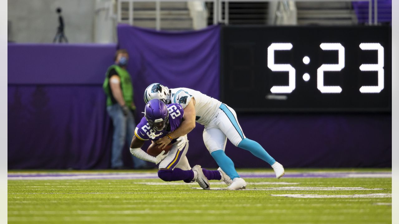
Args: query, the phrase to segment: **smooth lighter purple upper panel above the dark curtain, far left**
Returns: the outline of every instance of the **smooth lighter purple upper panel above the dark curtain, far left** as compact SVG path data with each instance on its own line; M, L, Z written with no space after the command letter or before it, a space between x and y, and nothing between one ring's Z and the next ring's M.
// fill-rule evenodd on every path
M102 84L115 44L8 44L8 84Z

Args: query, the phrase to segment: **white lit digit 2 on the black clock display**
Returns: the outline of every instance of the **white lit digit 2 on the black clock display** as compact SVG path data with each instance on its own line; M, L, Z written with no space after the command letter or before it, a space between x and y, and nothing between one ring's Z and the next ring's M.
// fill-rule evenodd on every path
M323 64L317 69L317 88L322 93L340 93L342 92L341 86L324 85L324 72L341 71L345 67L345 47L340 43L322 43L320 44L320 48L324 51L338 51L338 64Z

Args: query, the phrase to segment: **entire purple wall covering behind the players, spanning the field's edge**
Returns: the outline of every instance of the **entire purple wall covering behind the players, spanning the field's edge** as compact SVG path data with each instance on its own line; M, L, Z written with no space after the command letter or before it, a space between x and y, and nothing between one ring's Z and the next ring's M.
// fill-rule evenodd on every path
M119 26L130 52L134 99L144 108L151 83L219 94L219 28L165 33ZM105 169L112 124L102 82L115 45L8 45L8 168ZM141 116L138 110L136 120ZM390 114L238 114L247 138L285 167L391 167ZM188 135L191 165L217 167L202 141ZM144 145L144 149L149 143ZM269 167L227 141L236 167ZM131 165L128 148L126 164Z

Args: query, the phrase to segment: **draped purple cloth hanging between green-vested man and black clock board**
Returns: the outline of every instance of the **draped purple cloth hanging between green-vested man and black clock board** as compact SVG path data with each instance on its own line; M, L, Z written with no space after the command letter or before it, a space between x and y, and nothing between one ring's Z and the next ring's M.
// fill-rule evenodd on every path
M219 31L219 26L176 33L119 25L119 48L130 54L128 71L138 108L144 108L144 90L151 83L218 98Z

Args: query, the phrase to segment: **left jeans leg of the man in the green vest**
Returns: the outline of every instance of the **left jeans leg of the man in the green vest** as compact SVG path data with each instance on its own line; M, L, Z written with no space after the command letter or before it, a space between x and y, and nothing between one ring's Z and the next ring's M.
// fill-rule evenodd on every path
M118 104L108 106L107 111L114 125L111 168L115 169L123 166L122 149L126 138L126 117Z

